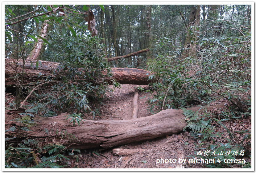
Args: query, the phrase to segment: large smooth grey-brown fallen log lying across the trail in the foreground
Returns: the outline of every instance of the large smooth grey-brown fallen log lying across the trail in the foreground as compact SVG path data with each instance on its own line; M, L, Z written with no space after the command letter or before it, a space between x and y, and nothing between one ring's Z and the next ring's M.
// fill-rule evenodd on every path
M222 107L218 105L217 108ZM197 111L201 107L188 108ZM216 106L209 106L207 111ZM202 109L199 110L202 112ZM19 137L19 139L33 138L60 142L70 148L100 148L106 149L117 145L154 139L156 137L179 133L187 125L182 110L167 109L147 117L122 121L93 121L85 120L78 126L66 120L67 113L54 117L35 117L30 131L19 130L27 125L14 121L13 114L5 112L5 136ZM206 120L206 119L205 119ZM73 136L73 137L72 137Z

